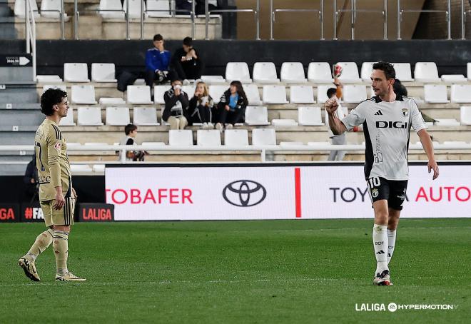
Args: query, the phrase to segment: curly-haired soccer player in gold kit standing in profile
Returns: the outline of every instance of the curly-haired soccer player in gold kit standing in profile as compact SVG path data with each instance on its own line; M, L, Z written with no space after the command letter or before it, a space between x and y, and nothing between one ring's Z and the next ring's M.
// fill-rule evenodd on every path
M56 280L84 281L67 269L69 255L69 233L74 223L76 193L72 188L71 167L67 156L66 141L59 130L59 122L67 116L69 102L67 93L59 88L50 88L41 96L41 112L46 119L34 137L36 168L39 177L39 202L48 228L39 234L18 265L25 275L40 281L34 264L38 255L49 245L56 256Z

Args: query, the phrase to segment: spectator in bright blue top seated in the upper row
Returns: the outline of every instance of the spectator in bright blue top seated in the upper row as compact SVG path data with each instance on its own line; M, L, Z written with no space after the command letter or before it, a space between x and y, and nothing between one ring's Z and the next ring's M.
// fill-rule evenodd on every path
M171 54L163 47L163 37L161 34L153 36L153 49L148 49L146 53L146 84L153 86L153 83L166 83L169 79L168 65Z

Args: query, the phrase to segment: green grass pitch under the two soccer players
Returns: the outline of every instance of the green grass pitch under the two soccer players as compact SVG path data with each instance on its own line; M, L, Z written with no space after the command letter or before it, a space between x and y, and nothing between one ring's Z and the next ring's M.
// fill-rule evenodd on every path
M389 287L372 285L372 228L372 220L77 223L69 269L86 283L54 282L51 247L33 283L16 262L43 224L0 224L0 323L470 323L471 219L402 219ZM386 310L355 310L362 303ZM388 303L454 309L392 313Z

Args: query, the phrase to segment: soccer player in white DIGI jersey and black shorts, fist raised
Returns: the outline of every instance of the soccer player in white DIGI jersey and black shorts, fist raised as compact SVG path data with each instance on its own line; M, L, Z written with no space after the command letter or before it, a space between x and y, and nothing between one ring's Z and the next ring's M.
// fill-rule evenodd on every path
M334 134L363 125L365 134L365 178L375 211L373 247L376 256L375 285L390 285L388 263L393 256L396 228L407 189L410 128L414 128L427 153L428 172L438 176L432 140L412 98L397 96L393 91L395 71L392 64L373 64L371 86L375 96L363 102L340 120L335 97L325 102L329 126Z

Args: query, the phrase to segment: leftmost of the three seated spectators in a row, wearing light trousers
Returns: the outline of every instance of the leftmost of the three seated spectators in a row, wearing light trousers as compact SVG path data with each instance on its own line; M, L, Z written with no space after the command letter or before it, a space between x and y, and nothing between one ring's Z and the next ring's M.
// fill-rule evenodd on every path
M181 90L181 80L172 81L172 88L163 94L165 108L162 119L170 123L171 129L183 129L188 125L188 95Z

